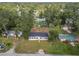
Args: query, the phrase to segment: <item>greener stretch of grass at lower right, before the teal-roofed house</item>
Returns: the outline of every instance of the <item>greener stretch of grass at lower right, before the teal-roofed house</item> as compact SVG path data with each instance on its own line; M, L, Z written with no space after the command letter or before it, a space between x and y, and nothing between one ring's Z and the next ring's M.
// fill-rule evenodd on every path
M62 42L54 42L48 49L48 54L79 55L79 43L76 46Z

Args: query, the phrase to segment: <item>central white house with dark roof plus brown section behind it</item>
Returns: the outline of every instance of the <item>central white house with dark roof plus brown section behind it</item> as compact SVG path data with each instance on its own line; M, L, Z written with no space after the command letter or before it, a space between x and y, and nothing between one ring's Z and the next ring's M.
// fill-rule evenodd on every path
M33 27L29 34L29 40L48 40L47 27Z

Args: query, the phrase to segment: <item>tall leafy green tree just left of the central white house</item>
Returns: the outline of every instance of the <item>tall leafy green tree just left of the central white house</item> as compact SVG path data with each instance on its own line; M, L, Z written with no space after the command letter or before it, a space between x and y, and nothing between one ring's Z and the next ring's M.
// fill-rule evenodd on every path
M29 32L33 26L33 10L21 10L21 16L15 20L16 31L22 31L23 36L28 38Z

